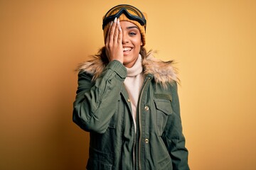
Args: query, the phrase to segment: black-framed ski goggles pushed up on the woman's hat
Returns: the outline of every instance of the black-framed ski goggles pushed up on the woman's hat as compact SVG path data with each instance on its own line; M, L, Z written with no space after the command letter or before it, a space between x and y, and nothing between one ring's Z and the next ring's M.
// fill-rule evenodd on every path
M112 14L114 11L117 10L117 13ZM130 13L129 11L132 11L133 13ZM146 31L146 18L144 17L142 11L139 11L138 8L127 4L114 6L109 11L107 11L106 15L103 17L102 30L104 30L107 23L109 23L110 21L114 21L114 18L119 18L122 13L124 13L124 15L127 16L127 18L129 18L130 20L139 22L140 25L145 27Z

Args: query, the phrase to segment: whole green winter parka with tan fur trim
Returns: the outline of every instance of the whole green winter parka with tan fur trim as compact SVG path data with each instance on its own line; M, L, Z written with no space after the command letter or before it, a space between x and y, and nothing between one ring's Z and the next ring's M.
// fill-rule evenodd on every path
M124 88L124 65L118 61L105 65L100 58L82 64L73 121L90 132L88 170L189 169L175 69L154 57L146 57L142 64L145 80L137 106L137 132Z

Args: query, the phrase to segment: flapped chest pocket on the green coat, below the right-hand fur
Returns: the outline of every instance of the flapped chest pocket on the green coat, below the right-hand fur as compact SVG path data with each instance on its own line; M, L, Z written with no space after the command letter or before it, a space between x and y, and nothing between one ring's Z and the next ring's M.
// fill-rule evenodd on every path
M156 125L158 135L161 136L164 132L168 116L173 113L171 108L171 100L166 99L155 99L156 106Z

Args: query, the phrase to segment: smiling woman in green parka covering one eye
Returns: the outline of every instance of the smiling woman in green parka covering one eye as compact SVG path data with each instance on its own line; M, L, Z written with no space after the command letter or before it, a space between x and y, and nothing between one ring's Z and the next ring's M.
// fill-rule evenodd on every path
M172 62L146 52L145 13L114 6L105 47L78 68L73 121L90 132L87 169L189 169Z

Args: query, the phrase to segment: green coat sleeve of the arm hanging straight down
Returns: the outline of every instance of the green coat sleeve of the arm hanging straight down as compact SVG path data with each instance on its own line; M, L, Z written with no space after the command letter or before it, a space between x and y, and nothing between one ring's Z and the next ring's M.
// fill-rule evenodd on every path
M172 84L171 108L172 114L169 116L166 128L164 129L164 142L169 149L172 164L175 170L188 170L188 149L185 147L185 137L182 132L180 106L178 100L177 84Z

